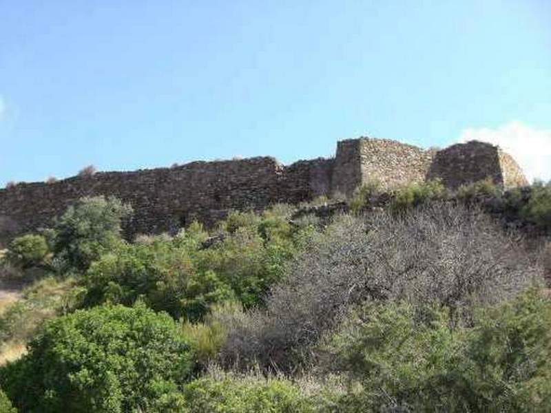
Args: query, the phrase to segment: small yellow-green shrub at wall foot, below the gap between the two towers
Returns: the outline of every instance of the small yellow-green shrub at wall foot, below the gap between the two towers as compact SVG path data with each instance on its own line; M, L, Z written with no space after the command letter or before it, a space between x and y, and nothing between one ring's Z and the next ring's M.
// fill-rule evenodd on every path
M395 192L391 208L395 212L402 213L431 200L444 199L446 194L446 187L439 179L421 183L413 182Z

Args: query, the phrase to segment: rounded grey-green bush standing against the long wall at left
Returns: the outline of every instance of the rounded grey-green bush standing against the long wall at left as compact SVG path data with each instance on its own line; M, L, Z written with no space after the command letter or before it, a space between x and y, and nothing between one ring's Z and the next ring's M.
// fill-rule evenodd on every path
M129 205L110 197L82 198L54 227L54 254L84 271L103 253L121 243L121 223L132 213Z

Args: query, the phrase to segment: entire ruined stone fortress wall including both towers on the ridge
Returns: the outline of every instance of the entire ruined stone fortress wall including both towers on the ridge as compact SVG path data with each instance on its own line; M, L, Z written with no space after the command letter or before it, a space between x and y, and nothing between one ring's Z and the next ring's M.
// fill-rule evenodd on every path
M392 189L441 178L455 188L488 176L505 187L526 184L512 157L489 144L469 142L424 151L393 140L369 138L338 142L335 158L302 160L289 166L258 157L101 172L0 189L0 244L49 226L83 196L114 195L132 204L134 218L125 228L132 236L174 232L192 220L210 226L231 209L261 210L277 202L296 204L318 195L352 195L357 187L373 181Z

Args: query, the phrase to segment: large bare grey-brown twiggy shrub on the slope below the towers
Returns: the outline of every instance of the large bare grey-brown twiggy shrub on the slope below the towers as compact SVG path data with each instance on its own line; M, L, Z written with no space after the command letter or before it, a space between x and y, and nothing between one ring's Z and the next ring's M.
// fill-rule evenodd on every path
M447 204L402 217L344 215L306 249L265 310L228 321L221 352L227 365L290 372L362 301L436 301L468 321L473 304L515 295L542 275L523 245L488 216Z

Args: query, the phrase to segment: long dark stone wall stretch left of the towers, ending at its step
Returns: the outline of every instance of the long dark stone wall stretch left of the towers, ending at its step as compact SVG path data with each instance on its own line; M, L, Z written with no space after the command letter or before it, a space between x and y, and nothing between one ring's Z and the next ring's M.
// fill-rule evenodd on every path
M127 233L175 231L194 219L212 224L229 209L276 202L282 174L273 158L251 158L19 184L0 191L0 217L7 223L4 232L22 233L50 225L83 196L115 195L134 207Z

